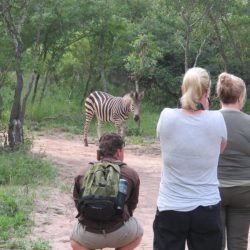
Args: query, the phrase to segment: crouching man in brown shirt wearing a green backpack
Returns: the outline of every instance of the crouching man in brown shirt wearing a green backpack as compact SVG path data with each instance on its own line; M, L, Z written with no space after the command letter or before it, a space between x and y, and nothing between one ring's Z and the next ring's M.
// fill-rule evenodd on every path
M138 203L140 179L137 172L123 162L124 146L124 141L118 134L104 134L99 141L98 162L90 163L87 171L75 178L73 198L78 210L78 222L75 224L70 238L74 250L102 248L132 250L141 241L143 228L133 217L133 212ZM101 165L107 167L104 171L105 177L101 176L102 171L99 169L97 171L97 168L100 168ZM90 175L90 172L95 178ZM112 176L108 176L111 173ZM119 183L119 179L122 179L127 185L124 199L121 197L118 199L119 202L124 200L122 210L111 211L116 205L106 208L104 205L106 204L105 199L99 201L98 205L93 205L96 197L100 197L100 194L93 194L93 192L101 192L104 196L104 187L114 185L110 180L116 180L117 174L119 174L119 177L115 182ZM95 179L95 181L92 181L92 179ZM102 182L102 185L95 183L96 187L93 188L91 185L94 184L90 183L98 181ZM119 189L119 185L111 189L115 192L116 188ZM91 191L93 189L95 191ZM100 191L100 189L102 190ZM117 198L115 200L117 202ZM109 213L112 214L110 216L107 214L109 210ZM99 214L99 212L104 213L104 211L106 214Z

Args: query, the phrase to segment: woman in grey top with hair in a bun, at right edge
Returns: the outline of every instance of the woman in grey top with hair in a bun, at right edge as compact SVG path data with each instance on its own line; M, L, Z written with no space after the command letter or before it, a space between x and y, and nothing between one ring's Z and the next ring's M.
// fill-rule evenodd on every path
M247 250L250 224L250 116L243 113L244 81L222 73L217 94L228 130L228 145L219 159L222 219L228 250Z

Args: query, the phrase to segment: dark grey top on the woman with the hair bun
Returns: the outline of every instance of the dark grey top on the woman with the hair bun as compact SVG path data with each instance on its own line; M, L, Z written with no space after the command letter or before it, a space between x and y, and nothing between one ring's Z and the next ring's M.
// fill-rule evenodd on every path
M228 142L219 158L220 186L250 186L250 116L236 109L222 109Z

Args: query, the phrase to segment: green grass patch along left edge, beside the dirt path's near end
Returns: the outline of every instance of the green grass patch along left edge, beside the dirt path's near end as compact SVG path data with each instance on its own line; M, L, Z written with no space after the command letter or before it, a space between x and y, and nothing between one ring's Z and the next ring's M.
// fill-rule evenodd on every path
M0 248L31 232L34 188L49 183L55 168L27 148L0 151ZM4 243L2 243L4 242Z

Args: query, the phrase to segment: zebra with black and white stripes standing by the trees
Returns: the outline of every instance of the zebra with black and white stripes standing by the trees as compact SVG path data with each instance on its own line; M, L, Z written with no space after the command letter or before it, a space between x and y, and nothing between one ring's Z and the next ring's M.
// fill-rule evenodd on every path
M91 120L96 115L97 135L100 139L101 129L105 122L115 124L117 133L124 136L124 125L129 113L133 113L136 122L140 121L140 103L144 92L131 91L123 97L114 97L102 91L92 92L85 100L85 124L83 131L84 144L88 146L88 130Z

